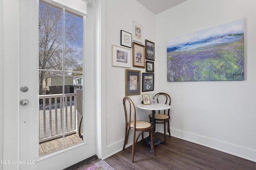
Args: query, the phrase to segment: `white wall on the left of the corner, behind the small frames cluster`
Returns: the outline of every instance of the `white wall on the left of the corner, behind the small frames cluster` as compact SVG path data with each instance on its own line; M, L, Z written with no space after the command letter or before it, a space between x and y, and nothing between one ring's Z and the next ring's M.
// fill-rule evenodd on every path
M112 66L112 45L121 46L121 29L132 33L132 21L143 26L144 40L156 41L155 15L152 12L135 0L106 0L104 2L106 4L104 6L102 3L102 12L106 10L106 15L102 14L102 23L106 23L106 25L102 25L102 28L105 27L105 30L102 30L102 40L104 40L105 34L106 41L102 42L101 48L106 51L105 53L102 51L101 54L102 158L121 150L124 144L125 123L122 99L125 96L125 69L140 70L141 75L142 72L145 72L145 68ZM130 96L130 98L134 104L142 101L141 95ZM148 119L148 114L139 110L138 114L141 114L142 119ZM129 142L128 145L130 144Z

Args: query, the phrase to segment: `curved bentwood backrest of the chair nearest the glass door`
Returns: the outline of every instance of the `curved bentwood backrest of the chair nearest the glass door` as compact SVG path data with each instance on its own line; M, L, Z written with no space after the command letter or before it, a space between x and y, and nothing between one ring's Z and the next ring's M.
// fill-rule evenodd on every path
M130 127L132 121L132 115L134 119L134 127L136 127L136 109L132 100L128 97L123 98L125 122ZM133 113L133 114L132 114Z

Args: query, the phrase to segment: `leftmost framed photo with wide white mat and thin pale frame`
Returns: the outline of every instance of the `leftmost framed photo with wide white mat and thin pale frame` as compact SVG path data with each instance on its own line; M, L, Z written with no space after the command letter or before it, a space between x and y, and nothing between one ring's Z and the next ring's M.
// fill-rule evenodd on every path
M112 45L112 66L131 68L131 50Z

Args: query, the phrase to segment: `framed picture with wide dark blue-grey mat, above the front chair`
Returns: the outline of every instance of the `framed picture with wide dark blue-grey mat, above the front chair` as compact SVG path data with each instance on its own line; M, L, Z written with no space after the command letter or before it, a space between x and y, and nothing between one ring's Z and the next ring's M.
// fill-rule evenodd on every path
M125 70L125 96L140 94L140 70Z

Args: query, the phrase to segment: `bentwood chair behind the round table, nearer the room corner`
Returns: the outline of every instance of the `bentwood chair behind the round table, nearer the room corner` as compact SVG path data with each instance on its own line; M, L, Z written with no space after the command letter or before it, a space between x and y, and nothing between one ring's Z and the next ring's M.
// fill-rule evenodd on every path
M162 104L168 104L171 106L171 97L167 93L157 93L155 94L154 98L156 98L157 103L162 103ZM150 122L152 122L152 114L148 116L150 119ZM171 137L170 133L170 109L161 111L158 110L158 114L156 111L155 114L155 123L159 124L164 124L164 141L165 144L167 145L166 141L166 123L167 123L167 131L169 133L169 137Z

